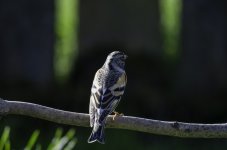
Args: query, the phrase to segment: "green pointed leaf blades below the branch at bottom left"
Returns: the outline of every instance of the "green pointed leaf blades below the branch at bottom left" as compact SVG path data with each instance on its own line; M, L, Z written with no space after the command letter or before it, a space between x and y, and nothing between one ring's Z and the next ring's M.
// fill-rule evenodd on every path
M54 137L52 138L50 144L47 146L47 150L72 150L75 148L77 139L75 138L75 129L70 129L65 135L63 134L63 130L58 128L55 132ZM42 150L41 144L38 143L38 138L40 135L39 130L35 130L24 148L24 150ZM10 128L5 127L0 139L0 150L10 150Z

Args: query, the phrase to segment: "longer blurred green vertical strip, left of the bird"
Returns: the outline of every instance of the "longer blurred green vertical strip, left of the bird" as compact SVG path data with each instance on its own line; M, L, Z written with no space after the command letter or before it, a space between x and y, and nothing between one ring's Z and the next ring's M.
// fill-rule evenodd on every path
M58 82L67 81L78 52L78 0L56 0L54 71Z

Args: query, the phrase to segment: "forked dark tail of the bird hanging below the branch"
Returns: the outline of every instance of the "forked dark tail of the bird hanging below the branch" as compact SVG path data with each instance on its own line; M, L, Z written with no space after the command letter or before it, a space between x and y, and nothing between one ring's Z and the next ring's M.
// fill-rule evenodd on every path
M104 125L94 124L93 130L90 137L88 138L88 143L93 143L98 141L101 144L105 144L104 140Z

